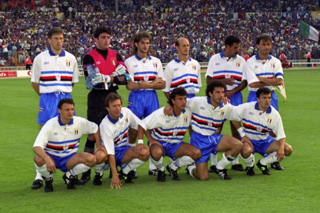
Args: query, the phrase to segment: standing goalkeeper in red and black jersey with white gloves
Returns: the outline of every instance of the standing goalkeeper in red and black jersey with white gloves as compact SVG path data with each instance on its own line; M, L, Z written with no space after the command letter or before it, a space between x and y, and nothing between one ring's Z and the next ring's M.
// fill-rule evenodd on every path
M94 39L96 49L89 52L83 59L83 70L86 77L86 87L91 90L88 94L87 119L100 124L106 116L103 102L110 92L116 92L118 85L127 85L130 77L126 72L121 55L109 49L111 42L111 29L98 27ZM88 135L84 152L94 153L95 138ZM103 146L97 142L97 150L106 153ZM87 183L91 178L91 170L82 174L80 182Z

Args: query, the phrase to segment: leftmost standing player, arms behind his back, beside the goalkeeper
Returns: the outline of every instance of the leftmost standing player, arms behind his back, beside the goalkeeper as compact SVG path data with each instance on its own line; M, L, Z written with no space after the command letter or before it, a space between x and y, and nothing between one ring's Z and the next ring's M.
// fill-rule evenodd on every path
M37 119L40 129L48 120L59 115L59 101L71 98L72 87L79 82L75 57L62 49L64 31L61 28L51 28L48 31L48 42L49 49L34 58L31 76L32 88L40 96ZM31 188L37 189L42 185L41 174L36 171Z

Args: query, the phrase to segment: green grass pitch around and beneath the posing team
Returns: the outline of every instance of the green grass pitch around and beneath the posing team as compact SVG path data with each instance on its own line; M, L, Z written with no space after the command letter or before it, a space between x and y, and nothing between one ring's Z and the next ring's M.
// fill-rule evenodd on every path
M67 190L63 172L59 170L53 175L52 193L45 193L43 187L31 189L35 177L32 145L39 132L36 123L39 97L30 79L1 79L0 212L319 212L319 79L319 69L285 70L288 99L285 101L279 93L278 99L286 141L293 152L281 163L284 171L270 169L272 175L263 176L255 166L256 176L247 177L245 172L231 170L229 165L226 168L231 181L223 181L212 173L208 181L198 181L182 168L178 171L180 182L166 176L166 182L158 183L155 176L147 175L147 162L137 169L134 184L122 181L121 189L110 189L107 171L101 186L94 186L91 180L76 190ZM204 73L202 83L199 95L205 94ZM126 106L129 92L121 86L118 93ZM77 116L84 118L87 94L84 78L80 77L72 96ZM243 94L246 101L248 90ZM162 91L158 95L163 106L166 100ZM223 134L230 135L229 122L225 123ZM80 152L85 141L83 136ZM188 133L184 141L189 142ZM256 162L260 158L256 154ZM168 162L165 157L164 166ZM241 159L240 162L244 165ZM92 179L94 174L92 169Z

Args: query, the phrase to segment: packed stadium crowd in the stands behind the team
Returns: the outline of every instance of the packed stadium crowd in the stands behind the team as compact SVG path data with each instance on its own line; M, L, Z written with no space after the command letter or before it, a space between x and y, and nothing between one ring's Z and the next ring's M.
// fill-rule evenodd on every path
M162 62L171 61L176 56L174 41L180 36L190 40L192 58L209 61L211 55L224 49L223 41L230 31L242 39L240 55L243 56L245 52L255 54L256 35L267 33L273 39L272 55L277 58L283 52L288 60L302 59L308 49L312 58L320 58L318 43L299 36L300 19L284 17L281 13L314 10L319 6L318 1L281 2L280 10L277 9L278 0L271 0L263 7L263 11L268 12L253 13L241 19L241 11L260 12L260 1L249 4L246 0L219 0L215 3L213 0L186 0L181 4L174 0L123 0L119 1L119 15L114 17L111 15L115 9L114 0L86 3L80 0L2 0L0 54L7 65L24 63L27 53L33 60L48 47L44 39L47 30L61 27L66 32L64 49L73 53L81 63L84 55L95 47L90 35L96 27L108 26L114 30L111 48L120 52L124 59L131 54L133 35L141 30L152 33L151 54ZM100 13L102 11L104 13ZM52 12L66 12L69 19L59 20ZM159 19L162 12L165 21ZM232 12L238 12L238 17L233 18ZM319 20L309 16L301 20L320 29ZM81 38L84 38L82 44L78 42Z

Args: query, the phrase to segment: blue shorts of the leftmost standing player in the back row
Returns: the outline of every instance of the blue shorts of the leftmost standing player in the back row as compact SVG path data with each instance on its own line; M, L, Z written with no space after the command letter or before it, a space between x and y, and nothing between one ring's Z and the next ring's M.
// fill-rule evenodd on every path
M68 92L50 92L42 93L39 103L39 114L37 122L39 124L45 124L50 119L59 115L58 103L61 99L72 98ZM75 115L75 113L74 113Z

